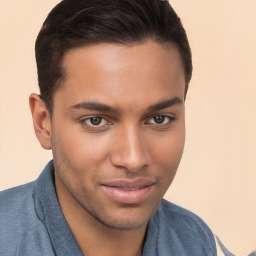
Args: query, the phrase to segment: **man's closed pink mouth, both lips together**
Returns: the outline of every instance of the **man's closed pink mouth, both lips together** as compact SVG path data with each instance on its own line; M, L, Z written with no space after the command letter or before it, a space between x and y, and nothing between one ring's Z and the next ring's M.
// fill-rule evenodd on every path
M155 184L152 180L118 180L103 184L106 195L119 204L139 204L147 199Z

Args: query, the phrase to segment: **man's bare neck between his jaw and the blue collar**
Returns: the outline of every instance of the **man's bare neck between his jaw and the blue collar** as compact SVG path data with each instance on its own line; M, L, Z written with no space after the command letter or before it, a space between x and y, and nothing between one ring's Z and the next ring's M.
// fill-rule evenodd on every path
M133 230L106 227L88 213L55 178L65 219L86 256L141 256L147 225Z

